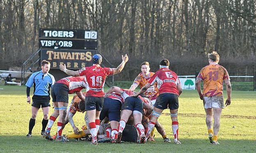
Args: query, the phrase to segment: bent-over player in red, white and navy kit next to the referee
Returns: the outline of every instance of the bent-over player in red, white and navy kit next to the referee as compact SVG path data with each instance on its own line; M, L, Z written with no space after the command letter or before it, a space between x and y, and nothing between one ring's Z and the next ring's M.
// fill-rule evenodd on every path
M85 101L85 96L82 94L81 90L86 88L86 80L84 76L74 77L69 76L63 79L60 79L53 85L52 89L52 98L53 98L53 106L54 112L50 116L50 121L48 122L48 126L46 128L46 132L43 133L43 137L46 139L50 139L50 129L53 126L54 121L59 116L57 122L57 141L66 141L62 137L62 130L64 127L66 108L69 103L69 94L76 93L82 101Z

